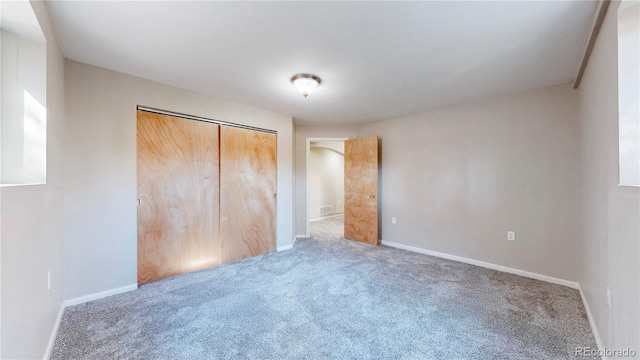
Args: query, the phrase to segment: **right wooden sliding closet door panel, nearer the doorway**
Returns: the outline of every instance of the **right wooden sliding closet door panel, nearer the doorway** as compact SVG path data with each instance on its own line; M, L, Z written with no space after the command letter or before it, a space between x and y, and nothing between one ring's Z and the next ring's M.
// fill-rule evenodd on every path
M276 135L220 127L222 262L276 250Z

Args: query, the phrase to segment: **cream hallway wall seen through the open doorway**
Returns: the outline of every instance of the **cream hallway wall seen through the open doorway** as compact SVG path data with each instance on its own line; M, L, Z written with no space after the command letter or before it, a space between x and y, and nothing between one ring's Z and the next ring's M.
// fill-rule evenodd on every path
M326 148L309 149L309 218L322 216L321 206L333 206L338 215L344 212L344 155Z

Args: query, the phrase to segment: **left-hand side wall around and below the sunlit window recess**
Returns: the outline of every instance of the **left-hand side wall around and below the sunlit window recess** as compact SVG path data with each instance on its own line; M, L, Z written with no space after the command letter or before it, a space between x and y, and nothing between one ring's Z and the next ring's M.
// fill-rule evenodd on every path
M43 358L62 306L64 59L45 3L31 5L47 40L47 183L0 189L3 359Z

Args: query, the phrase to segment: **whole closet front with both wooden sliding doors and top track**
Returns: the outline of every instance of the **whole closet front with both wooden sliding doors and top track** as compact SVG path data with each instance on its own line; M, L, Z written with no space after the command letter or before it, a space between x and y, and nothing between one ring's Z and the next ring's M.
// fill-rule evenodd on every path
M275 132L139 109L137 178L138 284L276 250Z

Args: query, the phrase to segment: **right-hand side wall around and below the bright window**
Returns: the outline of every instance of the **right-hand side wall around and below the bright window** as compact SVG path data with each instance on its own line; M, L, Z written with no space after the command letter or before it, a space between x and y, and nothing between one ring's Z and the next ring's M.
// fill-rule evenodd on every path
M609 6L578 89L580 284L602 346L640 351L640 188L618 186L618 49ZM607 305L611 291L611 308Z

